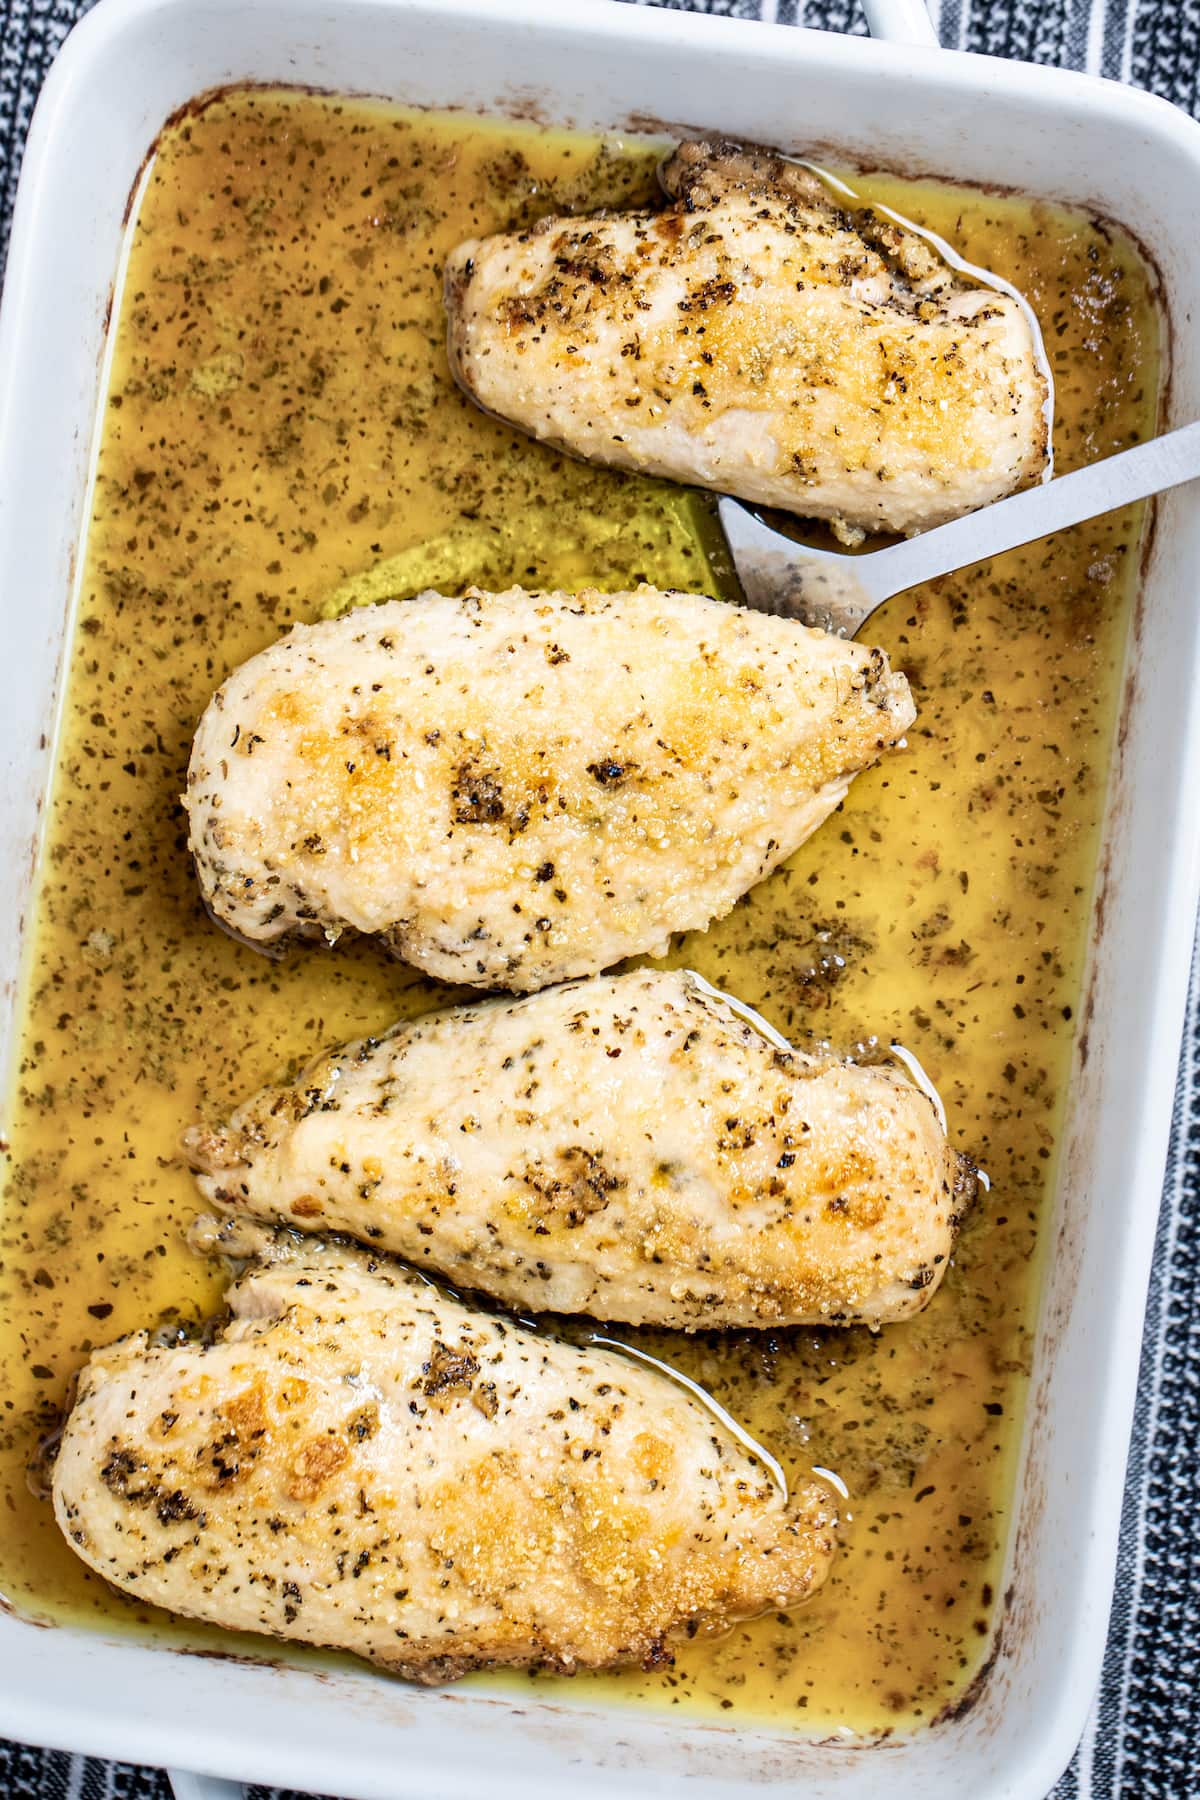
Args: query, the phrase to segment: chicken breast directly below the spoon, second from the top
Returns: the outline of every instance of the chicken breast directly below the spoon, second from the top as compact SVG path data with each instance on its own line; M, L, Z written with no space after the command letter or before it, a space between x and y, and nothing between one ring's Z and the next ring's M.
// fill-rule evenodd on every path
M425 594L230 675L191 848L252 943L353 927L540 988L727 913L912 718L880 650L698 594Z

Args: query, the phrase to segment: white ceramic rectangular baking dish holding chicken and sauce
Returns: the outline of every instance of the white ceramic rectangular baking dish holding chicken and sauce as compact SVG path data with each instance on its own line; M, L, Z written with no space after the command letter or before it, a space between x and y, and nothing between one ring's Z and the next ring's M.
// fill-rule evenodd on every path
M903 16L882 0L880 18ZM295 81L612 128L658 119L1097 207L1157 265L1171 423L1200 416L1200 126L1049 68L574 0L103 0L40 103L0 315L0 1040L49 776L110 290L164 119ZM1038 1336L1018 1526L972 1705L907 1742L806 1742L486 1688L414 1692L0 1618L0 1732L108 1757L398 1800L970 1793L1040 1800L1105 1642L1198 889L1200 509L1164 500L1108 808L1085 1028ZM198 1789L196 1789L198 1791Z

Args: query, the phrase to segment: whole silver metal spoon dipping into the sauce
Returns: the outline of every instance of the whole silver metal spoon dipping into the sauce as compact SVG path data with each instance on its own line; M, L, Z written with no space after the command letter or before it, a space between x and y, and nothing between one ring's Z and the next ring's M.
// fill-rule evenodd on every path
M747 605L855 637L892 594L1196 479L1200 421L864 554L797 544L739 500L718 513Z

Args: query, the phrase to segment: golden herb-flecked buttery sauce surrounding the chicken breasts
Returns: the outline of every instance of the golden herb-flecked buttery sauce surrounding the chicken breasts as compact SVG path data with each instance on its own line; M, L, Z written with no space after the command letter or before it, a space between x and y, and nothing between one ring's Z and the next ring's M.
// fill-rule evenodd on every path
M182 1238L196 1197L180 1129L446 999L369 945L270 963L207 922L178 806L191 734L236 662L426 540L443 551L423 578L452 590L716 585L691 502L482 418L443 353L441 266L461 238L646 200L660 149L277 92L228 94L158 144L117 308L7 1107L0 1591L23 1613L277 1651L110 1593L27 1478L90 1346L189 1330L219 1300ZM961 187L858 185L1025 290L1061 470L1153 430L1159 322L1124 238ZM993 1190L914 1323L630 1334L784 1467L833 1469L846 1546L792 1616L687 1645L667 1670L538 1692L880 1733L932 1719L984 1661L1139 529L1128 513L1083 526L878 614L871 637L921 709L907 751L675 949L801 1044L907 1044Z

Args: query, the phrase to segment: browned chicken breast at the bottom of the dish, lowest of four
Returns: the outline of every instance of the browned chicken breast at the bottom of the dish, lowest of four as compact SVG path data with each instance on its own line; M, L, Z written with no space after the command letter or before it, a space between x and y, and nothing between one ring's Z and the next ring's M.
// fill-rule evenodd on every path
M416 1681L669 1661L680 1631L822 1580L822 1481L765 1463L667 1375L471 1312L347 1247L228 1294L212 1345L86 1364L54 1467L68 1543L189 1618Z

